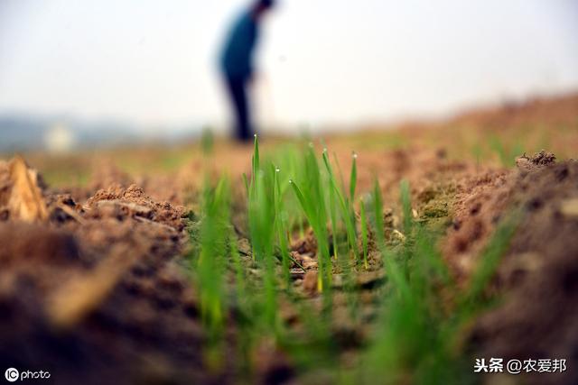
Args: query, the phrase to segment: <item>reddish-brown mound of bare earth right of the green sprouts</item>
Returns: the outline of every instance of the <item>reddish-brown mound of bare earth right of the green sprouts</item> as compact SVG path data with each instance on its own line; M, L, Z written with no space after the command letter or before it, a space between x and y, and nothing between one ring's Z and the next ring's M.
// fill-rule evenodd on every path
M555 162L541 151L518 158L517 170L467 186L444 244L452 269L464 279L499 219L514 207L523 210L493 283L503 304L475 325L475 355L565 359L564 373L523 374L524 383L578 382L578 161Z

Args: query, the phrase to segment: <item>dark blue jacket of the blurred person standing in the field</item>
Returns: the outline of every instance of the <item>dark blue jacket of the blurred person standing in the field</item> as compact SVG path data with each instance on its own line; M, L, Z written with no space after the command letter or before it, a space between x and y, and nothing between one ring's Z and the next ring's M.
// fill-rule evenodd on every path
M220 56L220 66L229 78L250 78L258 28L251 12L241 14L230 28Z

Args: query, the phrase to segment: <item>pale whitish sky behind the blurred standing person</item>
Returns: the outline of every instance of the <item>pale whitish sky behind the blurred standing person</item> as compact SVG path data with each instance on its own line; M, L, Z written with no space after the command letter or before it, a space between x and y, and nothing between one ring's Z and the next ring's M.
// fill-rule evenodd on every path
M242 0L0 0L0 113L224 124L219 44ZM578 89L575 0L279 0L267 124L356 124Z

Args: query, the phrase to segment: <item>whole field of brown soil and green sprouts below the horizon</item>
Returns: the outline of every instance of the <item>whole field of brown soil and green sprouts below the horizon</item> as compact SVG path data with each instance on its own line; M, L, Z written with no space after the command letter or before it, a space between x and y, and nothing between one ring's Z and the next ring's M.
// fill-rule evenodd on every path
M578 382L578 95L323 138L12 156L6 368L64 384ZM503 372L474 372L490 358ZM512 375L511 359L551 362Z

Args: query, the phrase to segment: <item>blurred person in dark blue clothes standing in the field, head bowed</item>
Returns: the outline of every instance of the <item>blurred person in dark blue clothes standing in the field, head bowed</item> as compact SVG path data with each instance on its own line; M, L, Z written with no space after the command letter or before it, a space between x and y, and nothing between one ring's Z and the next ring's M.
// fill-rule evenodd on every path
M220 56L220 69L235 115L235 136L241 142L251 140L255 133L249 97L254 80L254 52L259 23L274 5L275 0L256 0L240 14L229 29Z

